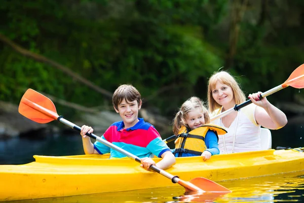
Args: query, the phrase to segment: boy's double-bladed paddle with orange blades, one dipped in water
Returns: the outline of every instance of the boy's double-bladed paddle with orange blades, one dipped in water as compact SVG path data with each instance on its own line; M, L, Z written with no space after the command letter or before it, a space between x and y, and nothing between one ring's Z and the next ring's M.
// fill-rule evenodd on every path
M59 116L57 114L55 105L53 104L51 99L32 89L28 89L22 96L19 105L19 113L37 123L48 123L53 120L57 120L79 132L81 131L81 127L75 125L74 123L71 123L68 120L65 120L63 116ZM86 133L86 135L110 147L111 149L116 150L128 156L129 158L141 163L139 157L127 152L126 150L116 145L113 145L110 142L107 142L106 140L101 139L95 134ZM169 178L173 183L178 183L179 185L183 186L186 191L231 192L229 189L205 178L195 178L187 182L179 179L177 176L169 174L168 172L156 167L155 165L151 165L150 168L151 170L165 176L166 178Z

